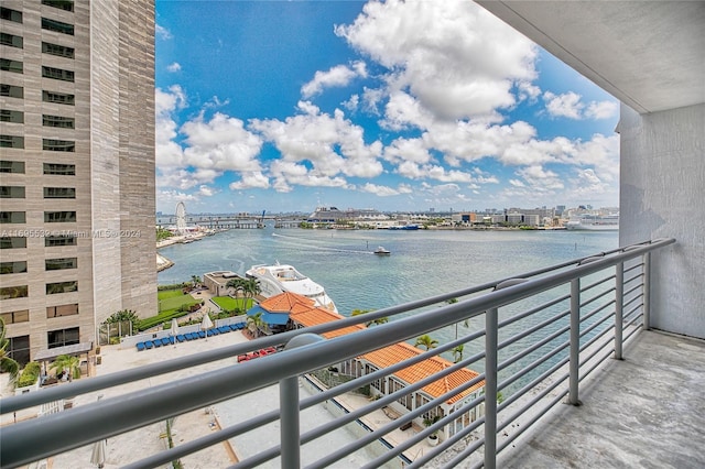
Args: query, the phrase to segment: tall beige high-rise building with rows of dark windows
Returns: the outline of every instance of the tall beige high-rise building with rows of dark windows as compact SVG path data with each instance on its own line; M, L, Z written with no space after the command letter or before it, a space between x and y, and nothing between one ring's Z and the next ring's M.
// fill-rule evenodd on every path
M26 362L156 312L154 1L0 9L0 314Z

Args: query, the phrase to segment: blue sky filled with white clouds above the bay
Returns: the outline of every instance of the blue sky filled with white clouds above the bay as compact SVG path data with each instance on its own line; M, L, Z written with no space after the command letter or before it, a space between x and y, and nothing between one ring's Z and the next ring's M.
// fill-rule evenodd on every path
M156 1L156 207L618 205L615 98L469 0Z

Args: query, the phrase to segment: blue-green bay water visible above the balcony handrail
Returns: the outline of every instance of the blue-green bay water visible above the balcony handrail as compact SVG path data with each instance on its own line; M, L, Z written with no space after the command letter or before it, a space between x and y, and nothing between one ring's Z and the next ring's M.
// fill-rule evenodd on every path
M322 284L344 316L520 274L618 247L617 231L230 230L160 253L159 283L253 264L292 264ZM379 246L391 255L379 257Z

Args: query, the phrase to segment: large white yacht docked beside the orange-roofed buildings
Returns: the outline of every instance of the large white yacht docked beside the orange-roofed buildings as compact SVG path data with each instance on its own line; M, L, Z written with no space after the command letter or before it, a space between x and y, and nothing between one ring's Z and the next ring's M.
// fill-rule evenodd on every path
M317 307L327 308L335 313L338 312L335 303L326 294L323 286L299 272L292 265L280 264L279 262L274 265L252 265L245 274L249 279L254 279L259 282L260 294L265 298L284 292L292 292L313 299Z

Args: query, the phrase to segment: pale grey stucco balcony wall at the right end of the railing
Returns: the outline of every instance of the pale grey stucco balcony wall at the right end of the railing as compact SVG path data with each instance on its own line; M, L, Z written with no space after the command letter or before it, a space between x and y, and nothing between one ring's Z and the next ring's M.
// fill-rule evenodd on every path
M621 107L620 246L676 244L653 255L651 325L705 338L705 105L639 114Z

